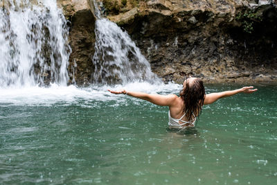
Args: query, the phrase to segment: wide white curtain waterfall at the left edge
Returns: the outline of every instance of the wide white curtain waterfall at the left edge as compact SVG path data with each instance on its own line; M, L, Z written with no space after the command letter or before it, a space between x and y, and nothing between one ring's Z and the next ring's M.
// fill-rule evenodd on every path
M6 0L0 7L0 87L66 85L70 46L53 0Z

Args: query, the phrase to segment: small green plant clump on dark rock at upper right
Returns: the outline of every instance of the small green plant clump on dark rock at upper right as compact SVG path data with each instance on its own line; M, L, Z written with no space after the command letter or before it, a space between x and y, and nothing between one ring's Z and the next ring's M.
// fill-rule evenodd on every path
M246 11L244 13L239 12L235 17L237 21L242 24L242 28L246 33L252 33L253 24L262 21L262 16L259 12L254 12L253 10Z

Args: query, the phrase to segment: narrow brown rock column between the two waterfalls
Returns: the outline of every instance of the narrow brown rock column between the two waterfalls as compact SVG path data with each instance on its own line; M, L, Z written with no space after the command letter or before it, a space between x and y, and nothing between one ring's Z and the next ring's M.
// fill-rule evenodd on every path
M94 17L87 0L60 0L58 4L69 19L69 43L72 53L69 58L70 84L89 85L93 65L91 56L94 53L95 35Z

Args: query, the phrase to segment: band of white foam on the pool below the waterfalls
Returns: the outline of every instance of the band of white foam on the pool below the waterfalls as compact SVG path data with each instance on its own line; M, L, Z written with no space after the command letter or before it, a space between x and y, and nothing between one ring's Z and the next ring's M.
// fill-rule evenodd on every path
M122 100L123 95L109 93L107 89L126 89L127 91L144 91L150 94L175 94L181 85L175 83L152 85L148 82L134 82L127 85L96 86L78 88L52 84L50 87L8 87L0 89L0 106L8 105L53 105L62 103L68 105L78 103L78 100L110 101Z

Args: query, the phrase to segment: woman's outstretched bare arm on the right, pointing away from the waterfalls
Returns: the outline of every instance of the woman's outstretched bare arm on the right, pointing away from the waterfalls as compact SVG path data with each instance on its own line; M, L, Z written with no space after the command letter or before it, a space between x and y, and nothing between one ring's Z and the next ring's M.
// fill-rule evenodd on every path
M251 86L251 87L242 87L241 89L235 89L233 91L223 91L219 93L206 94L204 99L204 105L214 103L216 100L220 98L226 98L239 93L251 94L257 90L258 89L253 89L253 86Z

